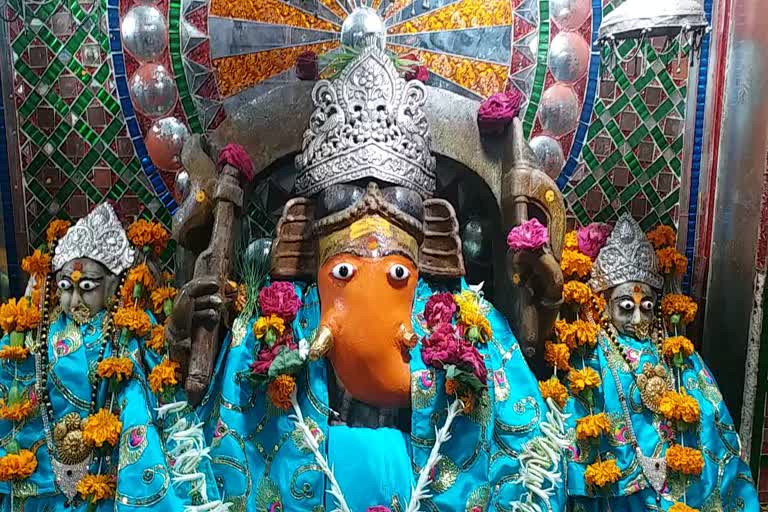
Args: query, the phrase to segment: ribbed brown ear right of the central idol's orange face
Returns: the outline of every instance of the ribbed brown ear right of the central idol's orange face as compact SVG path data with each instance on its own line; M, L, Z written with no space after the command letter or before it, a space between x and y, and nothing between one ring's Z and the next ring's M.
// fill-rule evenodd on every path
M424 201L424 241L419 250L419 272L438 278L464 276L459 221L445 199Z

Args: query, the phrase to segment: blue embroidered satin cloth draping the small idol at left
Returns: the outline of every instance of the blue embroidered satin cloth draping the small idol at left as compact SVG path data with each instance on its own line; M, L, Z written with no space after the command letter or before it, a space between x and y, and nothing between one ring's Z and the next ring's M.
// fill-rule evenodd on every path
M96 376L96 366L101 348L102 323L105 313L102 311L89 323L76 325L66 315L60 315L51 323L48 336L48 394L53 406L53 426L69 413L76 413L81 418L88 416L91 400L92 383ZM9 343L5 336L0 346ZM107 345L104 357L112 355L111 344ZM115 396L115 403L120 411L123 424L118 446L115 447L109 469L114 472L117 466L116 499L104 500L97 504L96 510L128 512L134 510L184 510L187 505L195 505L190 497L190 485L175 485L171 481L172 461L166 456L166 439L163 430L166 425L159 421L155 408L158 406L155 396L147 384L147 375L153 367L143 341L130 339L126 356L133 363L133 376L123 383ZM18 368L17 370L15 370ZM6 398L13 383L14 371L20 381L20 388L31 390L35 385L35 364L32 354L19 362L0 362L0 393ZM97 392L97 409L104 407L108 396L108 382L101 379ZM180 398L180 397L179 397ZM21 449L32 450L37 457L37 469L26 480L9 483L0 482L0 498L3 512L55 512L85 511L88 504L81 499L66 504L66 497L55 483L51 467L51 457L45 442L42 421L42 404L24 423L16 436ZM197 422L197 416L191 408L181 413L190 422ZM167 418L167 421L177 417ZM13 440L12 423L0 420L0 456L6 454L8 442ZM106 472L107 465L102 467ZM97 463L93 463L90 472L95 473ZM207 463L199 468L209 475L208 498L218 498L213 474ZM11 488L13 488L13 509L11 508Z

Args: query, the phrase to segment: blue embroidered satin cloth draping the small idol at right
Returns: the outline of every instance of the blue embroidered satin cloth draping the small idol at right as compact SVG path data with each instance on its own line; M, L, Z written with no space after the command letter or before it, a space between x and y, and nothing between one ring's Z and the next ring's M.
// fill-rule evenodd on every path
M572 446L568 450L568 495L574 511L597 510L669 510L676 502L705 510L755 511L759 510L757 492L747 465L740 458L741 446L738 432L712 374L698 353L685 358L682 371L673 369L677 382L699 403L701 411L698 430L685 431L681 437L659 416L643 405L632 370L611 342L601 332L595 350L584 358L584 365L592 367L600 375L602 385L594 391L594 410L605 412L611 422L610 435L601 436L599 445L603 459L615 458L621 470L621 479L602 491L589 489L584 480L587 465L595 460L597 446L575 438L576 421L589 414L585 402L571 398L566 405ZM637 374L648 363L659 363L657 350L648 339L636 340L620 335L619 343L627 348L627 357L638 361ZM577 361L572 358L572 362ZM575 365L577 368L581 364ZM612 371L612 369L615 371ZM650 486L638 463L631 444L631 433L617 391L618 386L627 397L632 427L640 449L646 457L663 457L670 444L684 444L703 451L704 471L701 476L683 477L667 471L666 485L661 494Z

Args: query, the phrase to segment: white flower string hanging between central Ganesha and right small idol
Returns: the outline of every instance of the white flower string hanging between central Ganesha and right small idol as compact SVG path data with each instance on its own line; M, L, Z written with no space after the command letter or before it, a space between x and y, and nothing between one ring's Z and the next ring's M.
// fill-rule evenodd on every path
M547 406L549 411L540 427L543 435L526 443L518 459L520 473L513 483L522 484L528 492L524 493L520 500L511 503L513 512L549 510L549 500L557 491L558 484L563 481L559 466L563 450L569 445L565 435L565 420L568 415L563 414L551 398L547 398ZM546 483L549 485L545 487ZM536 503L536 498L545 506Z

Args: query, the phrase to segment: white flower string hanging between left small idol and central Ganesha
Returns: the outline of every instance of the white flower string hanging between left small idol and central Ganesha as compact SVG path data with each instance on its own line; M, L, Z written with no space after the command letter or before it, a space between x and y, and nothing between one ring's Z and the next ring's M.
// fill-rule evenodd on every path
M192 423L182 415L187 408L186 401L173 402L157 408L160 419L169 414L176 414L176 421L164 430L166 439L175 445L168 451L173 458L171 480L174 485L189 482L190 494L197 493L202 501L200 505L187 505L184 512L227 512L231 503L221 500L210 501L205 473L199 471L203 459L210 458L210 448L206 446L202 423Z

